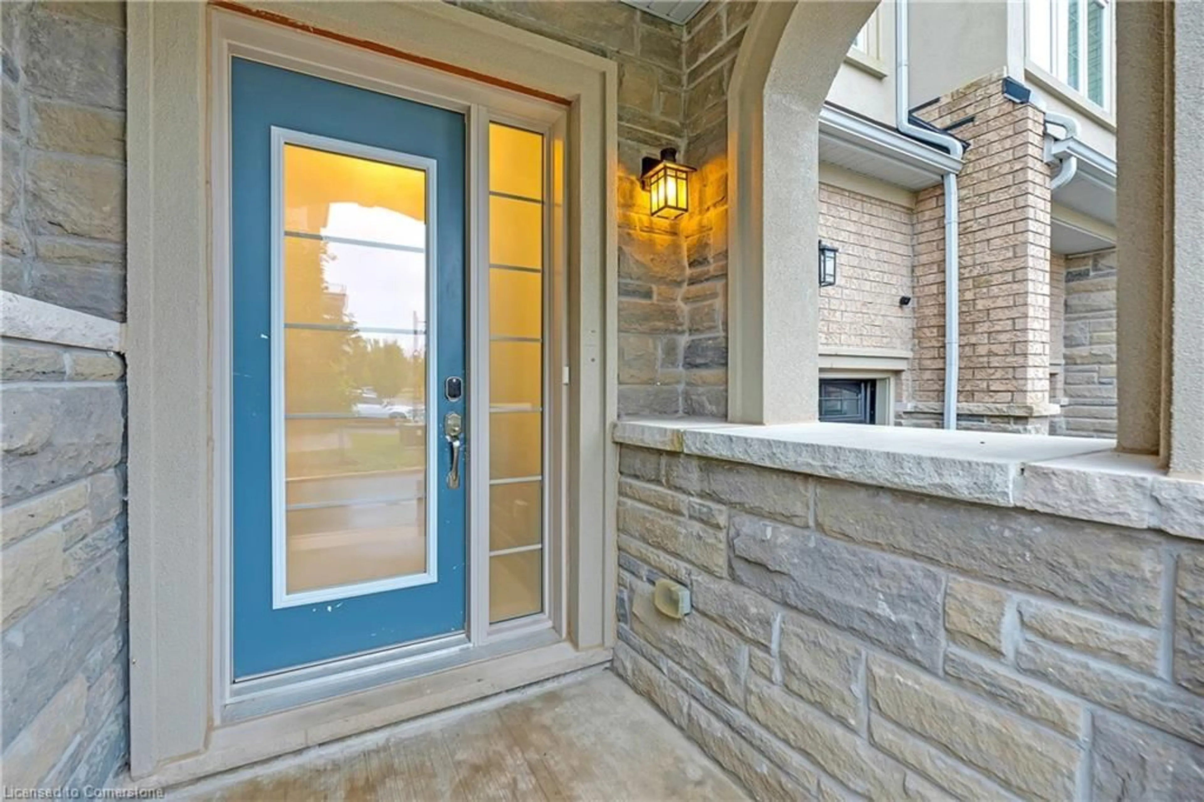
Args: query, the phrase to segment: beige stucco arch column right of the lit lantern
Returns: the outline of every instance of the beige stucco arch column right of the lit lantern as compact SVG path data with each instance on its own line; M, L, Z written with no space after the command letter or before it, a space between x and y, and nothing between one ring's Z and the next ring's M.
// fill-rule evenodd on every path
M819 114L878 6L760 4L728 87L727 408L734 423L815 420Z

